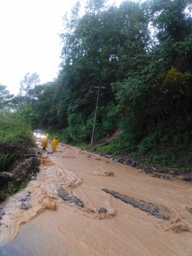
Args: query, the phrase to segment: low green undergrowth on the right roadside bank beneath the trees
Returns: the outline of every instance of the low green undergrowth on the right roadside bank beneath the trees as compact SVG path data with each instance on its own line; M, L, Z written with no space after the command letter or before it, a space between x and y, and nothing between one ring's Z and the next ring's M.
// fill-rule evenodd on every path
M135 148L132 147L134 145L132 139L121 140L120 135L106 144L95 146L92 150L105 154L126 155L134 159L142 159L150 165L160 164L179 168L183 172L191 172L192 133L178 134L174 129L164 128L166 127L161 127L148 137L144 137Z

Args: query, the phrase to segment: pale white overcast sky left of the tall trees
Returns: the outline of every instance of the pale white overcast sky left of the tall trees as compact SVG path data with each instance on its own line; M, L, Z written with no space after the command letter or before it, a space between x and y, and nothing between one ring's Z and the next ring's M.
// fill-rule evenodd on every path
M0 84L11 93L18 93L26 73L38 73L41 83L57 78L62 16L75 2L0 0Z

